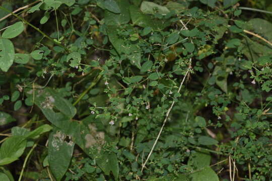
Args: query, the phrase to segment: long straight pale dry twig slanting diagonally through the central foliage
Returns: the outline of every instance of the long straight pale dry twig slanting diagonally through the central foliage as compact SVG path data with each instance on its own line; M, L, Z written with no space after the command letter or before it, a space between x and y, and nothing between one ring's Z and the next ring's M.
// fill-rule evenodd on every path
M189 67L188 67L188 69L187 69L187 71L186 71L186 73L185 73L185 75L184 75L184 77L183 77L183 79L182 79L182 81L181 81L181 83L180 83L180 85L179 85L179 88L178 88L178 92L177 92L177 93L180 92L181 86L183 85L183 83L184 83L184 81L185 81L185 78L187 77L187 74L189 73L189 71L190 71L190 69L191 69L191 60L192 60L192 59L190 58ZM142 166L141 172L143 172L143 170L144 170L144 168L145 168L145 166L146 166L146 164L147 164L147 162L148 162L148 160L149 160L149 157L151 156L151 154L152 154L152 152L153 152L153 150L154 150L154 148L155 148L155 146L156 146L156 144L157 144L157 142L158 142L158 140L159 140L159 138L160 138L160 136L161 136L162 130L163 130L164 126L165 126L165 123L166 123L166 121L167 121L167 119L168 119L168 117L169 117L169 114L170 114L170 112L171 112L171 110L172 110L174 104L175 104L175 101L172 102L170 108L168 109L168 111L167 111L167 113L166 113L166 116L165 116L165 119L164 119L164 121L163 121L163 125L162 125L162 127L161 127L161 130L160 130L160 132L159 132L159 134L158 134L158 136L157 136L157 138L156 138L156 140L155 140L155 142L154 142L154 144L153 144L153 146L152 146L152 148L151 148L151 151L150 151L149 154L148 154L148 157L147 157L145 163L144 163L143 166Z

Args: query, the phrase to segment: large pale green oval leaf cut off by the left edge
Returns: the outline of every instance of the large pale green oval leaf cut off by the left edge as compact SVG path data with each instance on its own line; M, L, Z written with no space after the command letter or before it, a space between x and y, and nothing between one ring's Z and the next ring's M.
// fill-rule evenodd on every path
M7 72L15 57L14 46L8 39L0 38L0 68Z

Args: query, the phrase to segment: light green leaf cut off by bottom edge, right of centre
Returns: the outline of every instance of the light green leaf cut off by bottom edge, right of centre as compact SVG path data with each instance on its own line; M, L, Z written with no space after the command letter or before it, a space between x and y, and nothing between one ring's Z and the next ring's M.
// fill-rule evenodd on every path
M216 172L211 167L203 168L190 174L191 181L219 181Z

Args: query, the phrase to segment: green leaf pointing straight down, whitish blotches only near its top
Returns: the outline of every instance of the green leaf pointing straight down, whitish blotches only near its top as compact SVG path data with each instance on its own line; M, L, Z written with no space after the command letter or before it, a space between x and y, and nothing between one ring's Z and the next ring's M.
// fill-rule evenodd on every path
M48 139L48 162L51 172L57 181L61 180L67 171L73 156L75 143L66 141L66 134L54 130Z

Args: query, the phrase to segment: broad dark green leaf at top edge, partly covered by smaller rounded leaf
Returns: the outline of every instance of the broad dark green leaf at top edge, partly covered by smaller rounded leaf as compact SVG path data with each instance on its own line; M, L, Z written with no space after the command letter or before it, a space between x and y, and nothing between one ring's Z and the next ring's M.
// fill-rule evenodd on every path
M105 11L105 24L110 26L119 26L130 21L129 2L123 0L116 1L120 7L120 14Z

